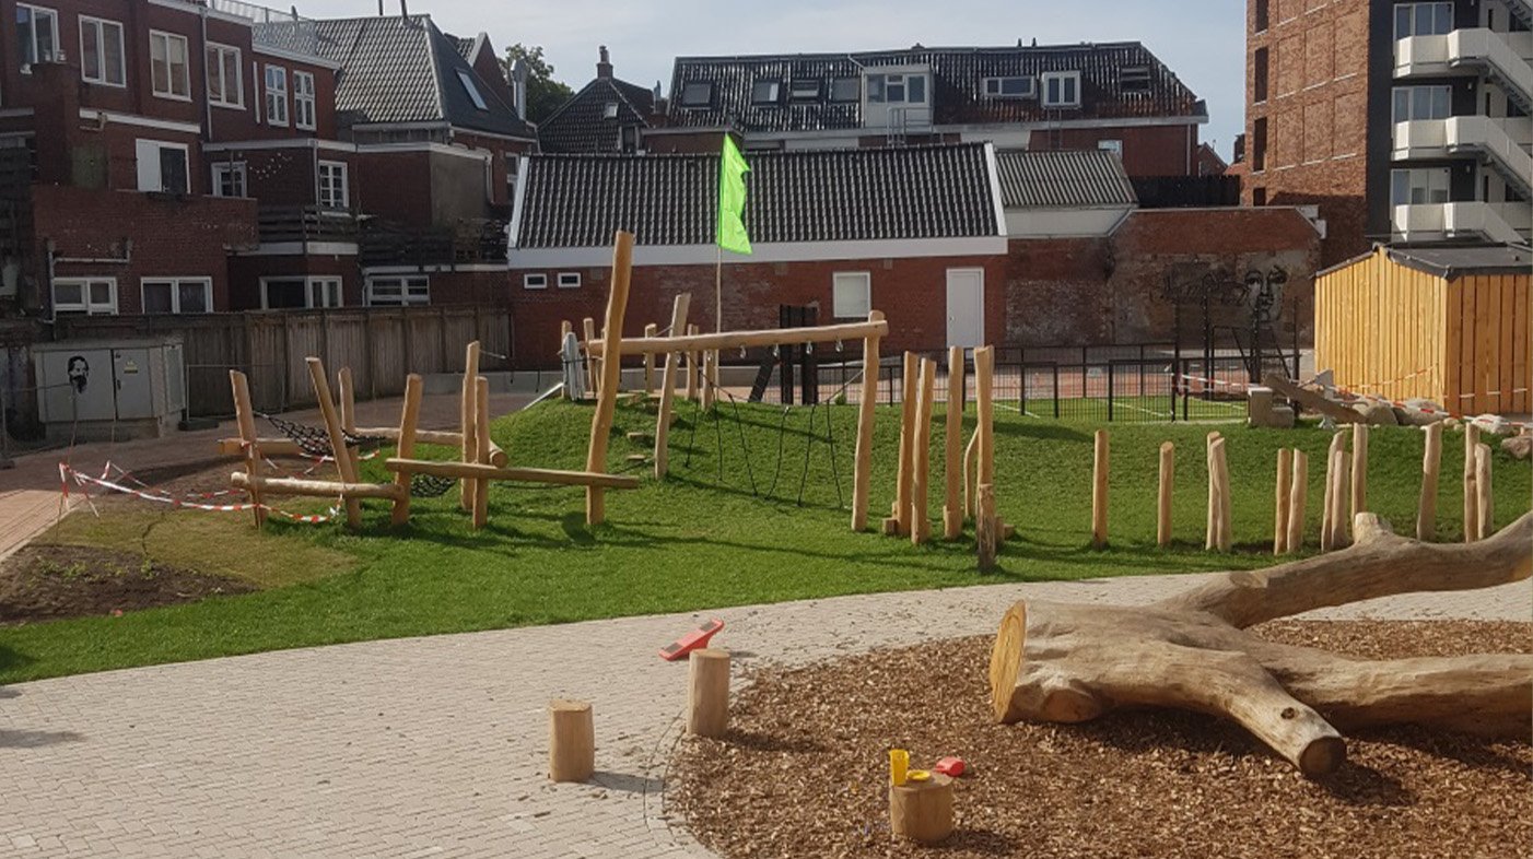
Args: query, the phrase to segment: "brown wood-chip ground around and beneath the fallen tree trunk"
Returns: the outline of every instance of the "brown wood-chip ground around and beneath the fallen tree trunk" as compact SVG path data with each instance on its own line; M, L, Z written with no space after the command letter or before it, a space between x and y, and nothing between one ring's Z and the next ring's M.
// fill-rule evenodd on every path
M1533 652L1533 623L1274 622L1279 642L1360 657ZM1533 746L1424 729L1348 740L1309 781L1240 727L1193 714L996 726L990 637L766 669L727 741L687 740L671 812L727 857L1312 857L1533 854ZM888 749L963 756L958 833L889 835Z

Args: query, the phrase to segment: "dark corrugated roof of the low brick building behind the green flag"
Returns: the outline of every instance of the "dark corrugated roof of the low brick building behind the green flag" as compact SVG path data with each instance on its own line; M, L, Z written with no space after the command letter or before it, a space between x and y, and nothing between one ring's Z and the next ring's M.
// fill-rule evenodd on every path
M986 144L747 153L753 242L946 239L1000 234ZM533 155L520 248L708 245L717 155Z

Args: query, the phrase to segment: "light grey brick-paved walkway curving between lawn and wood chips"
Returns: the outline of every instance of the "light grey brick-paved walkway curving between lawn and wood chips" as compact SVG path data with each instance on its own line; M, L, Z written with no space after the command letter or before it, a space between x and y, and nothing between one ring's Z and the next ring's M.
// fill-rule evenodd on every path
M1139 603L1199 577L880 594L369 642L0 688L0 854L701 857L662 804L687 668L992 632L1019 597ZM1527 620L1528 582L1323 617ZM546 703L595 701L593 784L552 786Z

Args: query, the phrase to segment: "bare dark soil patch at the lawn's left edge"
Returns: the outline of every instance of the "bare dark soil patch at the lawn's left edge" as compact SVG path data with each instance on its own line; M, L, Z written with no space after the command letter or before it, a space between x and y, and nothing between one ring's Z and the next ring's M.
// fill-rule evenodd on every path
M253 590L130 551L29 545L0 563L0 623L113 614Z

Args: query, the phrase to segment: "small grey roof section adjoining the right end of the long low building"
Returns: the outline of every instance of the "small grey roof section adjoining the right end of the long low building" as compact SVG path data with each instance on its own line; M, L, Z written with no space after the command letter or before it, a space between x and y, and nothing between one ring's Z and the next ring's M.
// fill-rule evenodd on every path
M1133 205L1134 185L1116 155L1078 152L995 153L1006 208Z

